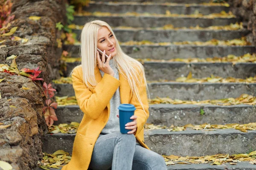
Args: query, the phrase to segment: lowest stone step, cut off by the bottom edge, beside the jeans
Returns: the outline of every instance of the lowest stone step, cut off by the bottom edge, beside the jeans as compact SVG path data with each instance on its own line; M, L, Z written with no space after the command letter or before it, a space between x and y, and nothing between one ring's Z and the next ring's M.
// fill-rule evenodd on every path
M59 168L62 169L62 167L59 167ZM248 161L237 162L237 165L175 164L167 167L168 170L255 170L255 168L256 166L254 164L250 164ZM49 168L49 169L57 170L55 168ZM43 170L43 169L38 168L38 170Z

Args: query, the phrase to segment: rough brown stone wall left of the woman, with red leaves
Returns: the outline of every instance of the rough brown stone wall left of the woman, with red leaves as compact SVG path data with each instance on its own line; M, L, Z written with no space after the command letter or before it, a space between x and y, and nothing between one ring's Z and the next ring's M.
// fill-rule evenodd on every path
M41 78L49 83L59 75L59 59L62 49L57 47L56 39L61 31L55 23L65 23L66 0L12 0L12 13L15 19L11 27L17 26L12 36L27 38L27 43L6 40L0 48L0 63L11 64L6 57L17 55L18 68L40 67ZM40 16L40 20L30 20L30 16ZM7 30L6 32L9 32ZM0 160L9 162L13 170L36 169L42 157L41 136L47 131L43 116L43 99L40 81L38 85L31 79L0 72L0 123L11 125L0 129ZM22 86L29 88L23 90Z

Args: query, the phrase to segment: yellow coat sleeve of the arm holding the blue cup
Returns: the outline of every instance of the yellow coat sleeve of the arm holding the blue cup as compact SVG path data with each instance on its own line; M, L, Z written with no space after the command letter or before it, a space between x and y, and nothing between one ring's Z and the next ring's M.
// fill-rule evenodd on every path
M136 110L134 111L134 115L137 116L137 131L135 136L139 134L140 131L143 129L143 126L145 125L145 122L147 121L149 116L148 96L147 96L146 84L145 84L146 82L143 79L143 72L141 70L140 70L140 78L142 79L142 83L137 84L137 89L146 113L144 112L142 106L140 105L140 102L136 99L135 94L133 94L130 104L133 104L136 108Z

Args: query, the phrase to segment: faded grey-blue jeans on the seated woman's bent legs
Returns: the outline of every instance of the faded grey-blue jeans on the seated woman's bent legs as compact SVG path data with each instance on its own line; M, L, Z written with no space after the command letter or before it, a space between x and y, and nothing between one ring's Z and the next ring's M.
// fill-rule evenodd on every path
M167 170L161 155L136 143L134 134L99 136L89 165L93 170Z

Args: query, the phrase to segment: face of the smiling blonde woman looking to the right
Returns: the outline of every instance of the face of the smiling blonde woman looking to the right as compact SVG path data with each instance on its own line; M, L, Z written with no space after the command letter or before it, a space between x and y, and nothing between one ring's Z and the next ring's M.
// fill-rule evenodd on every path
M116 40L114 39L113 34L105 26L99 29L98 31L98 41L97 46L101 51L106 51L106 54L111 57L116 55Z

